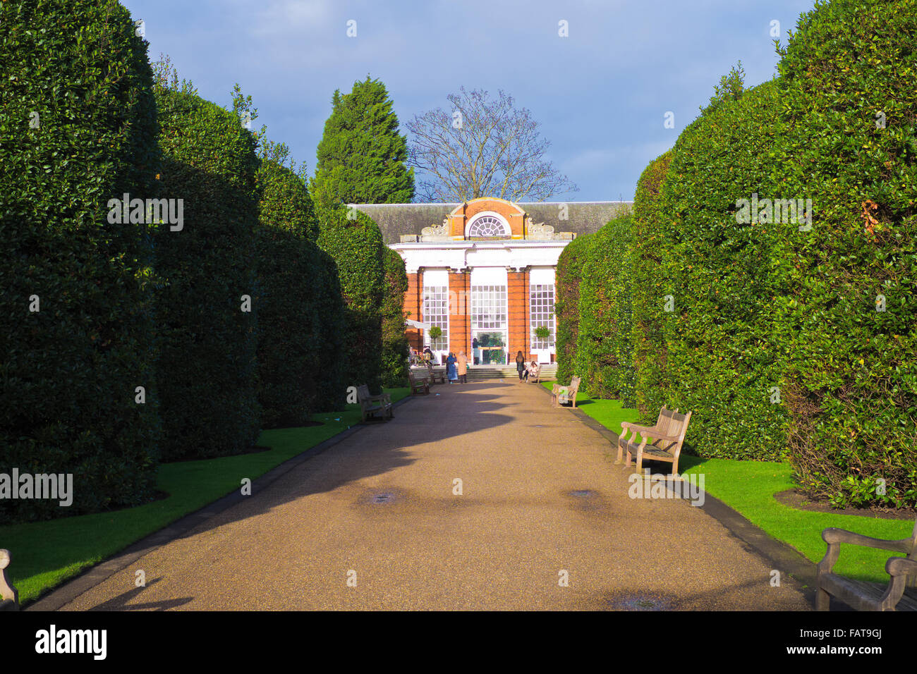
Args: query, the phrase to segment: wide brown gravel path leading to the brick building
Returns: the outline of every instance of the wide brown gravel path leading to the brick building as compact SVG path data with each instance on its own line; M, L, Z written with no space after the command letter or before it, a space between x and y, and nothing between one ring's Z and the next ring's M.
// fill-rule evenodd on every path
M64 610L811 610L700 508L631 499L535 385L431 391Z

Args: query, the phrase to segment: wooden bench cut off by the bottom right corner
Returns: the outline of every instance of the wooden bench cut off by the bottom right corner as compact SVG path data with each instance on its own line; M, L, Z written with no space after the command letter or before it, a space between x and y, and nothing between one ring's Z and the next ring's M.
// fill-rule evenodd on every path
M882 540L854 534L844 529L822 532L828 550L815 567L815 610L827 611L831 597L845 602L856 611L917 611L917 521L910 538L897 541ZM903 552L907 557L891 557L885 563L889 584L853 580L832 571L841 544L878 547L880 550Z

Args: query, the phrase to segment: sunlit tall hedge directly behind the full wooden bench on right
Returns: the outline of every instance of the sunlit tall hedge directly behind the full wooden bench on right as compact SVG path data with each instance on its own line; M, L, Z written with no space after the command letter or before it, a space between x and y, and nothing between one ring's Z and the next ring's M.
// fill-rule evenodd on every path
M786 445L774 314L783 233L736 221L740 200L782 196L770 176L780 170L779 101L769 82L710 109L679 137L663 185L661 271L674 311L657 397L691 410L689 440L704 457L779 460Z

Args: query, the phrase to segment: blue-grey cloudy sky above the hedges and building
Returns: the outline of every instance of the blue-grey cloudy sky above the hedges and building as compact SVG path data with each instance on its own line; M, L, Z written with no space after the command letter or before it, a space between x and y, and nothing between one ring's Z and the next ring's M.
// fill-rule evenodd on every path
M785 46L814 0L121 2L142 19L151 61L168 54L198 94L230 108L239 83L258 108L252 127L267 125L310 173L332 94L369 74L405 134L415 115L451 114L461 86L503 90L580 188L549 201L629 201L737 61L746 87L776 74L771 33Z

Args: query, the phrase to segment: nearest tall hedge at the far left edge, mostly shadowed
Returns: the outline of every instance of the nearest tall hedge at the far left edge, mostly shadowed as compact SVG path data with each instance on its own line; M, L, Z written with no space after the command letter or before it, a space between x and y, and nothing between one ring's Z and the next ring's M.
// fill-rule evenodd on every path
M107 215L123 193L154 195L157 153L146 43L127 9L0 4L0 472L73 476L70 507L5 498L0 521L152 495L149 227Z

